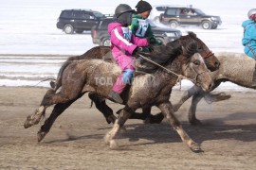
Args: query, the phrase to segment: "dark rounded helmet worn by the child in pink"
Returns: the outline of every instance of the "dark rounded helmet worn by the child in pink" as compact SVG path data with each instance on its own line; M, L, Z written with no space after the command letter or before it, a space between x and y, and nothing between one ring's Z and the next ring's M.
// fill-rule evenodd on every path
M132 22L132 14L135 12L127 4L119 4L119 6L115 9L115 17L118 18L118 21L124 25L131 25Z

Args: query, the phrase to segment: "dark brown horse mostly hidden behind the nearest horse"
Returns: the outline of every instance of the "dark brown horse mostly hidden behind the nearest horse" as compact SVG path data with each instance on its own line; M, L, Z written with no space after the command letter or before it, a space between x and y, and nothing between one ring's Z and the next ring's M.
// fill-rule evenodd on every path
M216 59L216 57L210 51L208 46L204 42L202 42L200 39L198 39L194 33L189 32L188 35L181 36L180 39L178 39L178 42L180 44L185 45L186 42L192 41L192 40L197 42L199 53L204 58L205 63L209 68L209 70L210 71L217 70L219 68L219 60ZM96 46L88 50L82 56L71 57L64 62L63 66L60 69L56 82L55 83L51 82L51 85L54 88L54 91L57 91L62 85L61 78L62 78L64 68L73 60L79 60L79 59L103 59L109 62L114 61L112 58L111 49L110 47L107 47L107 46ZM96 108L100 110L101 113L104 115L107 123L109 124L114 123L116 120L116 116L113 114L113 110L106 105L105 98L97 93L89 93L88 95L90 99L95 103ZM149 123L160 123L164 118L164 116L161 113L152 115L151 108L142 108L142 113L134 113L133 115L131 115L130 118L146 120Z

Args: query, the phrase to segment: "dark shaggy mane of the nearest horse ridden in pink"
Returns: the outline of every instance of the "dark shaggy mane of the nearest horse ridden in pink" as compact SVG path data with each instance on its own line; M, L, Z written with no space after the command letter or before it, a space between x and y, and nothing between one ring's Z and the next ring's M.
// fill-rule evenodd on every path
M151 53L139 53L140 55L151 59L157 64L162 66L170 65L178 56L183 55L185 57L185 62L187 62L194 53L198 52L197 42L192 39L188 39L184 42L175 40L174 42L168 42L166 45L154 45L153 51ZM145 59L139 58L139 64L137 64L137 70L154 73L158 70L158 66L151 63Z

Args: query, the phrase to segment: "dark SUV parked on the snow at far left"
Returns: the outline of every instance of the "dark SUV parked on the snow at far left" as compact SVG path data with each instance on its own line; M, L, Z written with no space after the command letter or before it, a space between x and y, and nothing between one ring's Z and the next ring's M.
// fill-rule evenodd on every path
M91 9L65 9L58 18L57 28L63 29L66 34L82 33L91 30L103 18L106 18L105 15Z

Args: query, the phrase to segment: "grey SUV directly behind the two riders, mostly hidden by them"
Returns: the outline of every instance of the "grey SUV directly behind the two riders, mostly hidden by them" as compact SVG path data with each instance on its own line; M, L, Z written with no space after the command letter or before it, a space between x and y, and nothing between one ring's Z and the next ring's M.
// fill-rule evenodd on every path
M155 38L158 41L167 43L173 42L174 40L180 38L180 30L159 27L156 26L152 20L149 21L152 31L155 34ZM97 43L104 46L110 46L110 36L107 31L107 26L112 22L115 22L114 18L106 18L101 20L101 22L99 22L98 25L92 27L91 36L93 43Z

